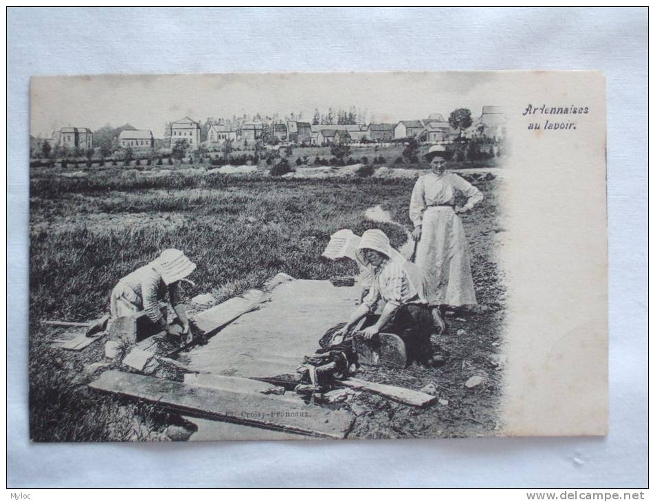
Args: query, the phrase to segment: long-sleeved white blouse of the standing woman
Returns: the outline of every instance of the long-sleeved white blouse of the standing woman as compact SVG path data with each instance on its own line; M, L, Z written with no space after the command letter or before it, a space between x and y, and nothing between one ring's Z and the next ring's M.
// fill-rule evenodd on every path
M456 190L467 197L467 203L463 206L467 210L485 198L480 190L454 173L443 173L441 176L429 173L419 177L410 200L410 219L414 226L423 223L423 211L430 206L454 204Z

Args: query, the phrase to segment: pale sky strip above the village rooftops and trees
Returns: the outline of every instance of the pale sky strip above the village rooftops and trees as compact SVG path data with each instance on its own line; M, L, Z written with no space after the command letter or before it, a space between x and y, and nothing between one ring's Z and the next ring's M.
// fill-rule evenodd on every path
M447 120L456 108L480 116L493 102L494 76L484 72L96 75L33 77L30 133L49 137L61 127L95 131L132 124L164 135L164 124L188 116L231 118L243 113L281 117L314 109L367 109L376 122Z

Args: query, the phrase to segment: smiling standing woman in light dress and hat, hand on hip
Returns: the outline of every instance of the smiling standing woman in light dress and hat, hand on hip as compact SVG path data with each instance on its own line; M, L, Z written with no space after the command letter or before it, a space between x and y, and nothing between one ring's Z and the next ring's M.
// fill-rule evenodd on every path
M447 305L475 305L469 250L459 215L471 210L484 196L462 177L446 171L445 146L432 146L425 155L431 172L417 179L410 201L412 238L417 241L416 263L430 285L431 306L445 314ZM455 205L456 192L467 198Z

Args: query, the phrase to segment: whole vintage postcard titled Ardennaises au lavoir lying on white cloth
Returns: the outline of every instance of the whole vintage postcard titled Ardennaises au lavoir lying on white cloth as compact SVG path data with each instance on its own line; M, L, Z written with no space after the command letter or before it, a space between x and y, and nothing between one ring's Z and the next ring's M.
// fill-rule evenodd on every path
M34 441L608 433L600 72L38 76Z

